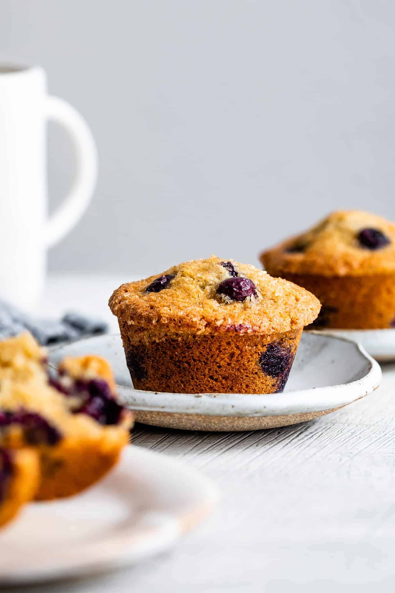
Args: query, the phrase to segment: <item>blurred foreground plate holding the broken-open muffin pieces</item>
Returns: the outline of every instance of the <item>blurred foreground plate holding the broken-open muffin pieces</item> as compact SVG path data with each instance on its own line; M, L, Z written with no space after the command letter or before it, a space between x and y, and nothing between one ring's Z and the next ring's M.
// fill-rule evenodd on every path
M84 576L171 547L217 502L216 486L178 461L131 445L84 493L32 503L0 534L0 586Z

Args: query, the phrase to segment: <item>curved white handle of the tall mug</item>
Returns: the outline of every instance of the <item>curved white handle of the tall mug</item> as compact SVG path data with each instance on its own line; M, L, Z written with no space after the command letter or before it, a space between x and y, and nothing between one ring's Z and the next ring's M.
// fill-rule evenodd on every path
M92 199L98 173L97 148L84 118L67 101L47 97L46 116L70 135L76 152L76 175L63 203L46 222L44 242L51 247L79 221Z

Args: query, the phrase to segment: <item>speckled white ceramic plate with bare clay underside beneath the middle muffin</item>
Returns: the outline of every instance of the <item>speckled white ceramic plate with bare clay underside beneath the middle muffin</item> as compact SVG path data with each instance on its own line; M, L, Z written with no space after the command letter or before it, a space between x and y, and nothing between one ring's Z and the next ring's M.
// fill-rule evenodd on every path
M92 337L50 353L56 366L66 355L97 354L113 366L124 403L137 422L197 431L246 431L306 422L338 410L374 391L381 369L349 340L320 332L303 333L284 393L154 393L131 384L121 338Z

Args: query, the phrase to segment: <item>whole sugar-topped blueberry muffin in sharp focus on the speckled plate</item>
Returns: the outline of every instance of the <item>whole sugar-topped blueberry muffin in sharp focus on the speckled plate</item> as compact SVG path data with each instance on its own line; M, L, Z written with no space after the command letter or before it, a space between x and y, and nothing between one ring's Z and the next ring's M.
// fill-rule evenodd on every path
M124 284L110 298L137 389L277 393L319 301L253 266L219 257Z

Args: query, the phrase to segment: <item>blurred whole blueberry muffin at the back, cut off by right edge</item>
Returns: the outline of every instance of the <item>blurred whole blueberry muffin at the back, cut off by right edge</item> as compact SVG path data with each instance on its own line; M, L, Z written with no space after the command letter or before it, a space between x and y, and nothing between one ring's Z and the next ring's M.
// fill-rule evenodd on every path
M333 212L261 254L269 274L313 292L313 327L395 327L395 224L367 212Z

